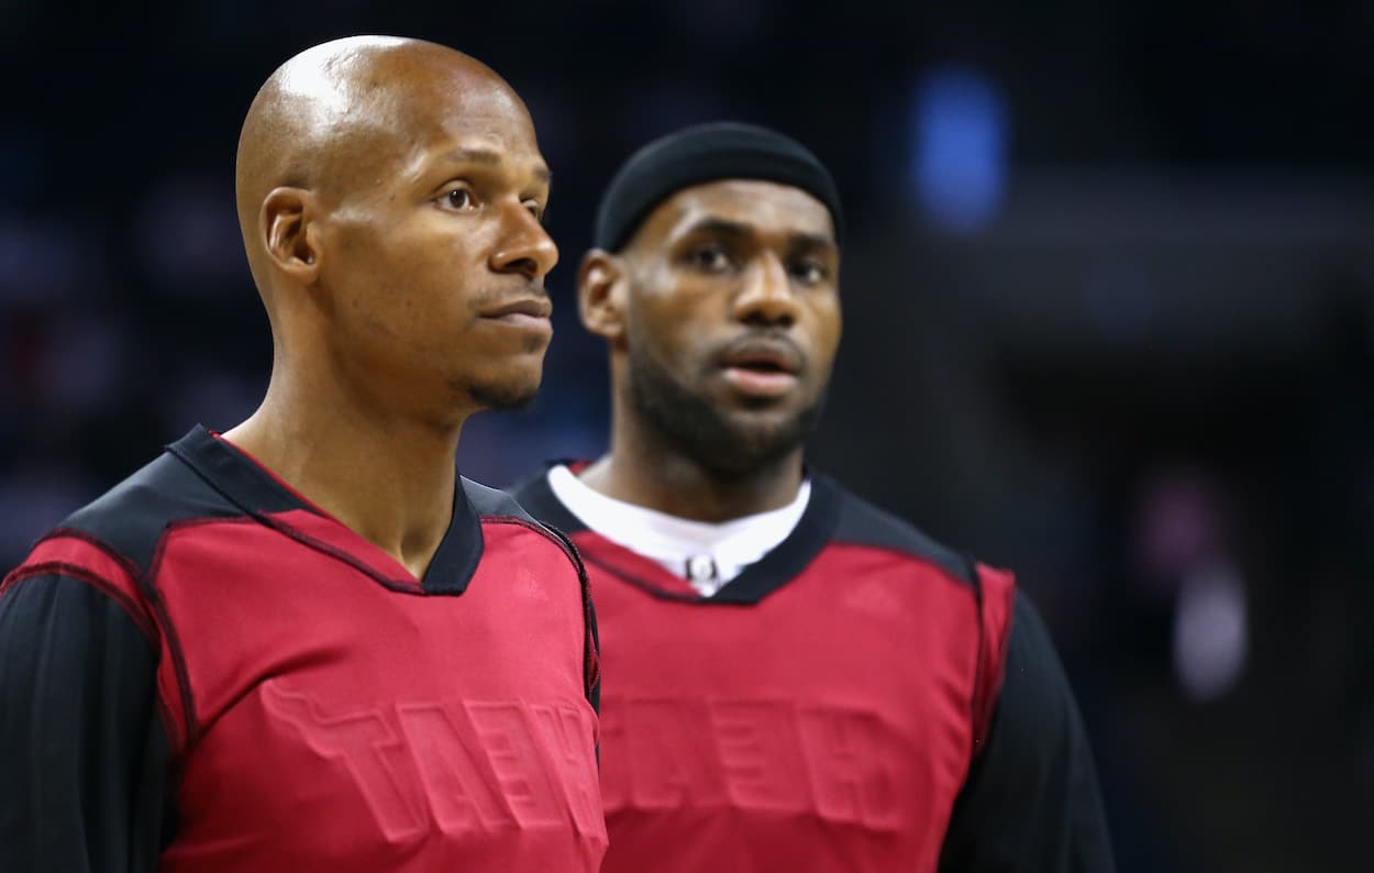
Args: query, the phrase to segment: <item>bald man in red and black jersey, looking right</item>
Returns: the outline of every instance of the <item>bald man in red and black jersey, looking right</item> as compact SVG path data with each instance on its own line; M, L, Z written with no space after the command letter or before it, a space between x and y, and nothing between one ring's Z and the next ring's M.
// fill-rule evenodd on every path
M455 476L548 345L548 169L440 45L309 49L238 206L262 406L0 587L0 870L595 870L598 671L566 540Z

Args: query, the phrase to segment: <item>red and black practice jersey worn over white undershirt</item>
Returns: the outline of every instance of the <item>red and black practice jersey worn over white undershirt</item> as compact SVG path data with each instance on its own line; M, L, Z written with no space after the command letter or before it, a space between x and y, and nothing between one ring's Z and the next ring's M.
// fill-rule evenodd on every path
M547 476L517 498L592 580L606 873L1112 869L1072 694L1009 573L813 476L791 535L701 597Z

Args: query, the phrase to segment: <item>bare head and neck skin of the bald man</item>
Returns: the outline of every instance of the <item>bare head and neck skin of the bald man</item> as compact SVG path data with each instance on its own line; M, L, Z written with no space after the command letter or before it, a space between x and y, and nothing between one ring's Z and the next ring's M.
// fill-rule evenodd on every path
M262 85L236 170L273 362L225 439L422 577L464 419L543 373L558 250L529 113L453 49L337 40Z

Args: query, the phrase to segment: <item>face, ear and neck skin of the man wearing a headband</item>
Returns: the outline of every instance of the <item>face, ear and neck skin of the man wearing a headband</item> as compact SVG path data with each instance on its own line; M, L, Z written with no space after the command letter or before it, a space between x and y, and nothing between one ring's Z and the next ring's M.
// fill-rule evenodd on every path
M771 181L684 188L621 253L589 252L578 304L610 348L613 421L583 480L698 521L789 503L840 344L838 283L830 212ZM749 373L779 368L793 378Z

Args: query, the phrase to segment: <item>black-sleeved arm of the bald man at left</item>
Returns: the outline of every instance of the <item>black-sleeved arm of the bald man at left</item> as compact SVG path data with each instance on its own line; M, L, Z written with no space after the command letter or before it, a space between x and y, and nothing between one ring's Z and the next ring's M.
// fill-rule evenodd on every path
M85 582L0 590L0 870L157 869L169 747L155 672L153 643Z

